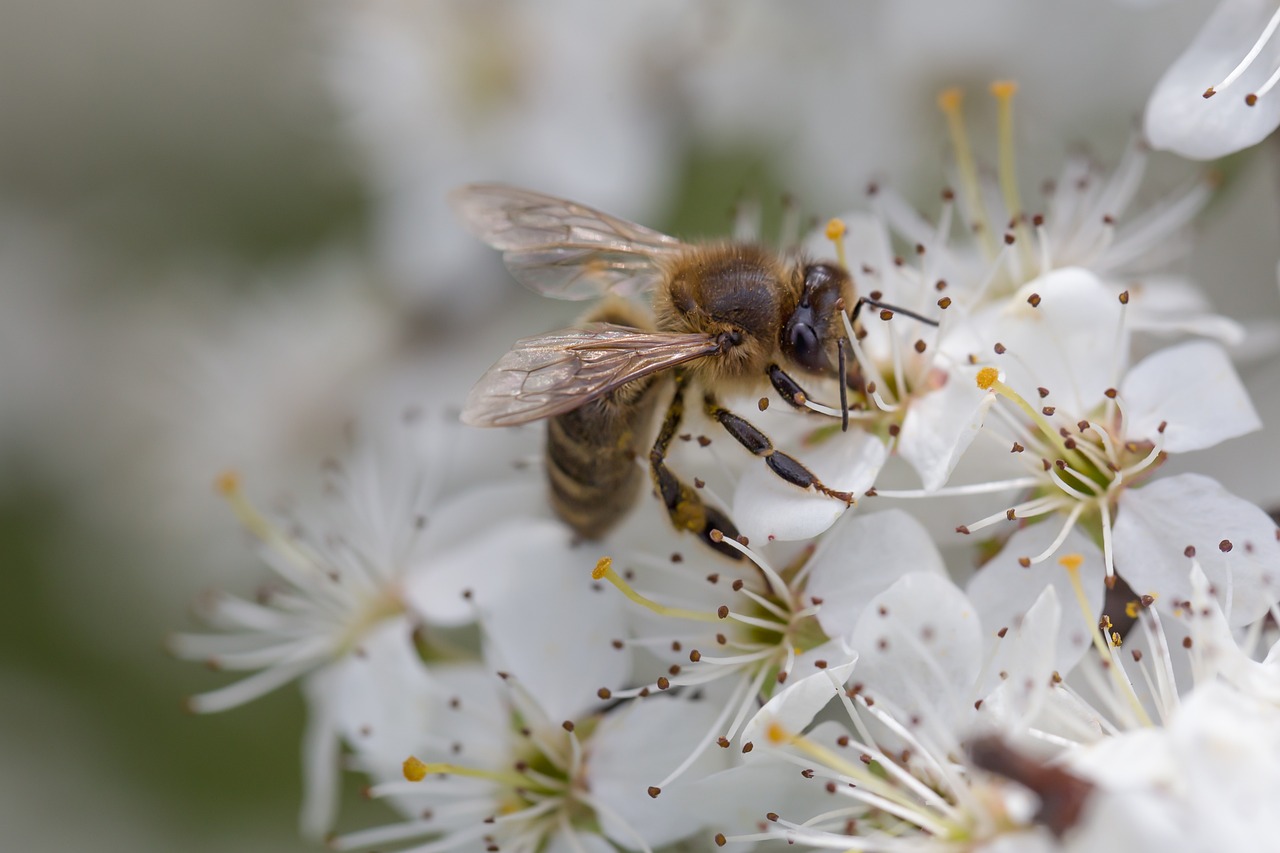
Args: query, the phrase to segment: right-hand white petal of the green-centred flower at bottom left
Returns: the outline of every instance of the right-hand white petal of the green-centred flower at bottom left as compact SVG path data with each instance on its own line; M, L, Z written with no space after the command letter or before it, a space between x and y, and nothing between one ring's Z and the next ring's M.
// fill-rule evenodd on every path
M703 752L657 798L648 789L680 766L703 738L712 736L718 711L718 703L709 699L655 695L617 708L600 721L590 742L590 785L613 812L599 815L605 835L627 849L636 849L636 833L650 847L663 847L705 824L701 803L681 792L694 780L723 770L727 751L712 747Z

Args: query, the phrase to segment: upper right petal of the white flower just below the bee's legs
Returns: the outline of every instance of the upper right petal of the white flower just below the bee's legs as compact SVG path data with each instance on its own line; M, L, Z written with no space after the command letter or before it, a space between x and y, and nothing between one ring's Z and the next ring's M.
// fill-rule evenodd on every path
M827 637L847 637L872 598L904 575L946 576L928 532L902 510L845 519L809 561L805 592L822 599L818 622Z

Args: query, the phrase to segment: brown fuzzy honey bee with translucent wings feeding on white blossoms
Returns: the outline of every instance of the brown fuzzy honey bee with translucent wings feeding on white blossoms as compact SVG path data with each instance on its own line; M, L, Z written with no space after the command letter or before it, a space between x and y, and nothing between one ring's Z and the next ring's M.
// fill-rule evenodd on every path
M602 537L635 502L641 480L635 460L663 374L673 378L675 392L649 448L649 470L677 529L740 556L713 533L736 537L732 521L666 462L695 386L707 415L783 480L854 503L852 494L824 485L718 401L719 393L759 389L768 379L782 400L801 407L806 394L787 373L799 370L837 379L847 428L842 313L855 302L842 266L783 257L750 242L684 243L585 205L502 184L461 187L451 202L526 287L564 300L607 297L576 328L517 341L462 410L462 420L477 426L549 420L552 505L579 535ZM653 320L622 298L646 292Z

